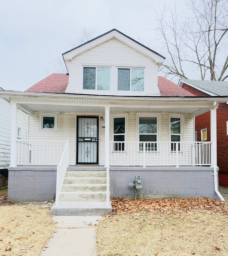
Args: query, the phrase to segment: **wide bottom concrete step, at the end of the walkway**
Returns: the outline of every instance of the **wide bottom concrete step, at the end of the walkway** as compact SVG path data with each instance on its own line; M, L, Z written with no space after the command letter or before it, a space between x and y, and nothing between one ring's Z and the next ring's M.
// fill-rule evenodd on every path
M105 202L60 202L59 205L51 207L52 215L102 215L112 212L112 205L109 202L107 206Z

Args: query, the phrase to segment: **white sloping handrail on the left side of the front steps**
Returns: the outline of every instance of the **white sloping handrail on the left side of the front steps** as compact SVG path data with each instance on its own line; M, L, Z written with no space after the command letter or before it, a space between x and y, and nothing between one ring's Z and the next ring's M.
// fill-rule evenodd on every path
M56 205L59 205L59 195L62 189L63 180L66 175L67 167L69 166L69 140L66 141L63 154L57 165L56 172Z

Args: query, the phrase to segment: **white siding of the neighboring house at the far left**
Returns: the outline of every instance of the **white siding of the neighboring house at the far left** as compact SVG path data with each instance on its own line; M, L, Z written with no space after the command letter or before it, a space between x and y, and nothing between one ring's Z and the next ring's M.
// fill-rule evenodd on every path
M20 139L26 140L28 131L28 115L20 109L17 110L17 125L21 129ZM11 104L9 101L0 98L0 169L5 169L10 165L10 141Z

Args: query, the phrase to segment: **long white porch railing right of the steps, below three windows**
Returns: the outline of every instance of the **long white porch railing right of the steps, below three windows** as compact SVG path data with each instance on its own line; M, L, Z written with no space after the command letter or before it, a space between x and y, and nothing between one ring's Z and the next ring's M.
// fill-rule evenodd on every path
M109 165L211 165L211 142L111 141Z

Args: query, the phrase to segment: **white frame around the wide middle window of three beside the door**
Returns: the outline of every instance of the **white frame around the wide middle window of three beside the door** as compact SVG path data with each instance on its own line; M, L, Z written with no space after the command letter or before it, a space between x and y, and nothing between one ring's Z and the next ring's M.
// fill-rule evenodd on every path
M157 142L161 141L161 114L160 113L136 113L136 139L139 141L139 117L156 117L157 118ZM146 141L145 141L146 142ZM157 150L148 152L158 152L159 144L157 144ZM138 148L138 151L139 148Z

